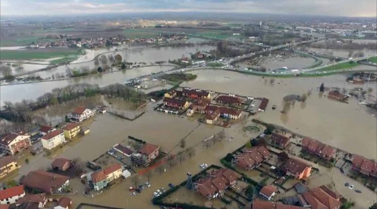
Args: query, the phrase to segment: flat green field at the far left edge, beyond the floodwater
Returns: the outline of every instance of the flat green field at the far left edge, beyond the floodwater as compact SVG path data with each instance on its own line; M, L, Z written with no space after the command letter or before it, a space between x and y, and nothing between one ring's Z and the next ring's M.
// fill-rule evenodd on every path
M80 53L76 49L30 49L30 50L2 50L0 60L33 60L50 59L54 57L76 57ZM54 61L55 62L55 61Z

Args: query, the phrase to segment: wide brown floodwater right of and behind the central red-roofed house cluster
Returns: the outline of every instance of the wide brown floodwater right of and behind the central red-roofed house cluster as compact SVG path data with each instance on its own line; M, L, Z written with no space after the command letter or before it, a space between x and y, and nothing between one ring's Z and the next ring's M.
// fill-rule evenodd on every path
M256 119L284 126L299 134L313 137L352 153L377 158L377 119L364 111L364 106L359 106L353 98L349 99L349 104L341 103L320 96L317 90L323 82L326 87L347 89L371 87L375 92L375 83L371 83L367 87L366 84L364 86L354 85L345 81L346 75L334 75L312 78L276 78L271 84L269 78L265 81L266 79L262 79L262 77L224 70L201 70L194 73L198 75L196 80L181 85L246 96L266 97L269 99L267 110L257 114ZM312 91L312 94L305 103L295 103L288 114L279 113L283 108L282 98L284 96L302 95L309 90ZM272 105L277 106L276 110L271 109Z

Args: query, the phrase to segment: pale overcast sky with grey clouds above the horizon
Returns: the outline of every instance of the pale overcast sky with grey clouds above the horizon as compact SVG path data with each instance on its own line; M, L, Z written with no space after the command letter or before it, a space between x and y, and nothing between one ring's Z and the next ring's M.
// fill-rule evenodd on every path
M195 11L376 17L376 8L376 0L0 0L2 16Z

